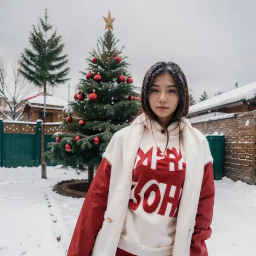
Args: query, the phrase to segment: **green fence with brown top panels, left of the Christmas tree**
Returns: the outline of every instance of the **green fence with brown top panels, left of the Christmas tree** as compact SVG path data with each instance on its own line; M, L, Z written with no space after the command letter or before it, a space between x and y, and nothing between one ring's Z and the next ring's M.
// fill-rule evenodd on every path
M41 124L38 122L3 122L0 119L0 167L39 166L41 164ZM44 149L49 150L47 144L54 142L53 131L57 131L56 124L47 125L51 134L44 135ZM52 128L50 128L52 126ZM45 130L46 130L45 129ZM47 165L50 163L46 159Z

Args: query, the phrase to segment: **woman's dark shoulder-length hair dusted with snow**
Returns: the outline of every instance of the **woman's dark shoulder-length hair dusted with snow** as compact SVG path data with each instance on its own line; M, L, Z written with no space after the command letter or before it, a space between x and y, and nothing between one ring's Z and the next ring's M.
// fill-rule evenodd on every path
M179 129L180 129L180 118L186 117L188 114L188 108L190 105L190 96L188 93L188 87L187 87L187 79L184 74L184 72L180 69L179 65L173 62L157 62L156 64L152 65L149 70L147 70L142 84L142 93L140 97L140 102L142 104L142 109L139 111L139 113L136 115L138 117L143 112L145 113L146 118L149 117L150 121L156 120L158 122L157 115L152 111L149 103L149 93L150 93L150 87L154 80L154 78L157 75L170 73L177 85L177 90L179 92L179 103L177 106L177 109L173 113L173 117L170 120L170 123L167 124L163 129L165 130L167 134L167 144L169 143L169 132L167 130L167 127L173 123L178 121ZM151 125L152 128L152 125ZM166 150L166 148L165 148Z

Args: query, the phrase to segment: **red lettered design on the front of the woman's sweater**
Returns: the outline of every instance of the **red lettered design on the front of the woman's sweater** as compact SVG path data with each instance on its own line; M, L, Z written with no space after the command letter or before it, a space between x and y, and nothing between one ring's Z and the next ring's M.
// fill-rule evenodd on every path
M166 149L161 157L160 149L153 147L146 153L141 149L133 170L133 187L129 206L133 211L142 207L146 213L177 217L181 191L185 179L185 163L178 149ZM154 160L156 169L154 167Z

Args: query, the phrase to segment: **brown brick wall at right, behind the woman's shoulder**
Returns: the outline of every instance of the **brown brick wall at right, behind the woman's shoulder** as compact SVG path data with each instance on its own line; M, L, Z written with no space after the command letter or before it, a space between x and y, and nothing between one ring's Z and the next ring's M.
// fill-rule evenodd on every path
M208 120L207 122L192 123L193 127L204 134L214 132L225 135L225 176L235 181L241 180L248 184L255 184L255 119L256 110L234 117ZM246 126L246 121L250 124ZM248 123L248 122L247 122Z

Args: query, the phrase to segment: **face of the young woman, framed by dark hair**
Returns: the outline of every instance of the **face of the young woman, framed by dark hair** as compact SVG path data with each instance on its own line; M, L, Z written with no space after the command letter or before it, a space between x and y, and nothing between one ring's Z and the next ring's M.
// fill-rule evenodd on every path
M157 75L150 87L149 103L151 110L158 116L158 122L166 125L173 117L179 103L179 92L170 73Z

